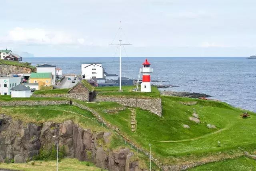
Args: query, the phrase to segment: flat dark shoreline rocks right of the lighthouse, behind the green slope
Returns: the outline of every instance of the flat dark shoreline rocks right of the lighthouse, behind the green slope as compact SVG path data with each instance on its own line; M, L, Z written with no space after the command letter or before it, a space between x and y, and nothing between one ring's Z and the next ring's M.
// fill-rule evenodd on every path
M199 97L211 97L210 95L204 93L189 93L189 92L178 92L178 91L160 91L162 95L170 96L179 96L179 97L190 97L190 98L199 98Z

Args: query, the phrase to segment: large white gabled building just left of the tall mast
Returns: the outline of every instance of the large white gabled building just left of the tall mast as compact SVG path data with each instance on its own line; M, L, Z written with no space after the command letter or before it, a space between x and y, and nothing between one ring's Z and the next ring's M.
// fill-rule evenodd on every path
M82 78L90 80L91 78L103 78L104 69L102 64L81 64Z

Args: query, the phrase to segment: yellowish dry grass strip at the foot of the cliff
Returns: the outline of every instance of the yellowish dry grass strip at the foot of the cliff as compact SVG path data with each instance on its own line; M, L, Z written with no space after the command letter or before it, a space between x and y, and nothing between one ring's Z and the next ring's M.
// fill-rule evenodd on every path
M3 169L15 169L22 171L56 171L56 161L34 161L34 165L28 163L0 163L0 170ZM88 166L89 164L89 166ZM86 161L78 161L77 159L62 159L58 162L59 171L102 171L96 167L93 163Z

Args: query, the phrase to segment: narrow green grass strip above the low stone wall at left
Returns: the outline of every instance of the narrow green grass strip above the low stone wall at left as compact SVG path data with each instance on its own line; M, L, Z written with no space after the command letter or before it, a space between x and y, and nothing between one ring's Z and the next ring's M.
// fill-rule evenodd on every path
M46 90L45 90L46 91ZM24 100L32 100L32 101L40 101L40 100L66 100L64 97L15 97L12 98L11 95L0 95L0 101L24 101Z

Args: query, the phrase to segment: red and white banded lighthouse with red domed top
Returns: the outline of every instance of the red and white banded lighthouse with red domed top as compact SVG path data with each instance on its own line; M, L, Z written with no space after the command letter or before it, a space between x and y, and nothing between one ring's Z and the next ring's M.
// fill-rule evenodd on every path
M150 68L150 65L151 64L146 59L142 64L143 68L140 69L142 72L141 92L151 92L150 73L152 73L153 70Z

